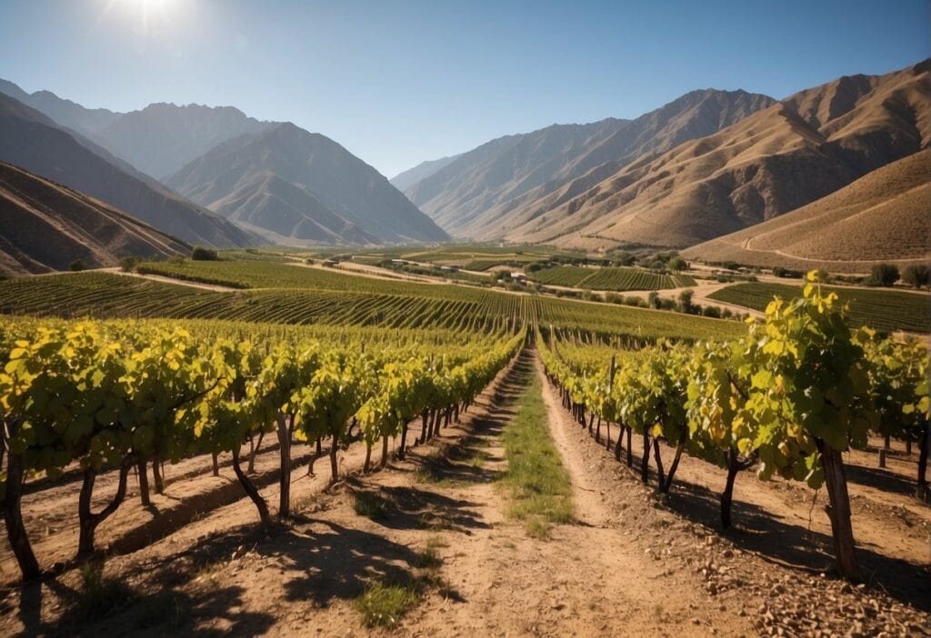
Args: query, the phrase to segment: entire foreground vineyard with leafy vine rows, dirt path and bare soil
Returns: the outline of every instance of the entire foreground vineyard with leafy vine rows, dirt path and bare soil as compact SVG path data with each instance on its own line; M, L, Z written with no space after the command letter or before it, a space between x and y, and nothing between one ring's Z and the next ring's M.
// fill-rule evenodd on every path
M927 350L852 329L816 281L740 324L274 259L157 267L236 290L0 282L0 565L80 592L43 617L345 635L487 608L494 634L553 596L542 564L563 586L533 622L560 633L832 633L848 608L864 635L915 633L931 613ZM865 467L883 441L895 472ZM114 602L88 602L93 578ZM618 616L593 581L666 606Z

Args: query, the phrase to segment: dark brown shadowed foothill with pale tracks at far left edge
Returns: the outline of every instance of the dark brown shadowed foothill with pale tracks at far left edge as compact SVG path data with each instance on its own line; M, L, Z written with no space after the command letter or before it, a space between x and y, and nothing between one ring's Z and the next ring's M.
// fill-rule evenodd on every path
M191 246L151 226L23 170L0 162L0 271L66 270L81 260L89 268L120 257L169 257Z

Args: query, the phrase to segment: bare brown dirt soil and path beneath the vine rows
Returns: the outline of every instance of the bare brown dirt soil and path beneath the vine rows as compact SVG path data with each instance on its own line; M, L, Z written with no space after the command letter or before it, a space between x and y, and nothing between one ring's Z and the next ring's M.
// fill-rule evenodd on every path
M101 525L99 544L110 549L104 574L130 593L98 620L73 605L77 570L20 589L4 546L0 634L931 635L931 512L911 498L915 455L896 451L886 470L865 453L845 459L867 577L853 586L830 571L823 494L813 507L810 490L741 474L735 529L722 536L721 470L684 458L673 493L657 498L636 462L631 470L615 461L545 382L575 520L548 539L531 538L508 517L509 497L495 481L506 469L500 434L531 375L542 368L527 350L460 424L403 461L392 457L385 470L358 472L360 445L344 455L346 480L329 490L327 459L317 462L317 477L295 468L295 513L271 530L258 528L228 464L219 478L209 459L169 466L155 512L130 494ZM256 479L273 511L276 464L270 446L258 456ZM34 538L42 565L67 561L76 547L76 477L40 487L24 508L27 528L49 525L46 538ZM224 496L232 488L238 493ZM356 513L359 494L382 511ZM435 565L425 565L427 548L439 554ZM393 629L367 628L354 608L375 580L421 591Z

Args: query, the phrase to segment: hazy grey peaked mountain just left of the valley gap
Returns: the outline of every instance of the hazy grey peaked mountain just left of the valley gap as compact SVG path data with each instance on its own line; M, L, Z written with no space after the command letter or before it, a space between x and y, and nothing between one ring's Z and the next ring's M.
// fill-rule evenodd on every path
M166 183L227 219L291 244L448 239L374 168L290 123L223 142Z

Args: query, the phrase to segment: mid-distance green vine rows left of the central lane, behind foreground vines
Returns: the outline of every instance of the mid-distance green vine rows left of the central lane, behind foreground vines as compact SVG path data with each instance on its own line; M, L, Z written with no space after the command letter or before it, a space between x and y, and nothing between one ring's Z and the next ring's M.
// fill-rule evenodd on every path
M371 281L363 277L347 278L353 283L361 280L360 285ZM521 303L520 298L513 295L461 286L449 286L445 299L331 289L213 292L136 277L84 272L2 282L0 312L60 317L170 317L484 329L514 321L513 318L520 315Z

